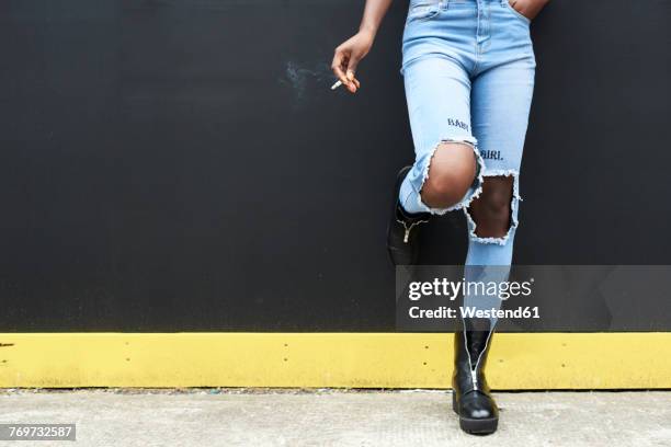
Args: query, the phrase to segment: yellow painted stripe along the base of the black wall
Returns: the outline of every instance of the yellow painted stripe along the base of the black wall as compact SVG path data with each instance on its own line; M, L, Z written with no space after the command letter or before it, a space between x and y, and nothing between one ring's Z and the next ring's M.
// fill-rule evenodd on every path
M451 334L4 333L0 387L448 388ZM671 333L497 334L494 389L671 388Z

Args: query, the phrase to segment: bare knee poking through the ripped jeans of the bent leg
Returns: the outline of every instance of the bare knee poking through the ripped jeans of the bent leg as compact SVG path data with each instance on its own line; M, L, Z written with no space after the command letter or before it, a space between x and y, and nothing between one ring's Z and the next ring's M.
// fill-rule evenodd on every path
M432 208L448 208L458 204L473 184L476 169L476 156L469 145L440 144L422 185L422 202Z

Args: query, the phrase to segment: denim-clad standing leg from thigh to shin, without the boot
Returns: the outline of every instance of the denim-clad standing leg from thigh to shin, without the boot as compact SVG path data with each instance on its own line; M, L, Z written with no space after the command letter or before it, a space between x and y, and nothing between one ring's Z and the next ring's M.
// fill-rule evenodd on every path
M526 55L494 65L473 80L474 135L485 160L482 192L466 209L469 229L466 279L504 282L510 273L519 225L520 165L534 88L535 61ZM515 53L516 54L516 53ZM467 294L465 307L498 309L496 296ZM493 329L496 318L490 319Z

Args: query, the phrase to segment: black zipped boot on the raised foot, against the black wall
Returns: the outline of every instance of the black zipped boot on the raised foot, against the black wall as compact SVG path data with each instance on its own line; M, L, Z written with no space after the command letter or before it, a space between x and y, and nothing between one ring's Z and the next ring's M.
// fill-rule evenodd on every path
M398 172L391 216L387 226L387 250L394 265L414 265L419 260L419 240L417 226L429 221L430 213L409 214L400 206L398 193L401 183L412 167L405 167Z

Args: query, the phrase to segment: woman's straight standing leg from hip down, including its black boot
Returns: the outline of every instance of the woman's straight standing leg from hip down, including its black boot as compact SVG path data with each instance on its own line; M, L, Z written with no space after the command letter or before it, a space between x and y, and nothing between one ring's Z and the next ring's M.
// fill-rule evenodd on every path
M482 21L478 70L473 77L474 135L485 159L482 193L465 210L468 221L467 282L507 282L518 229L520 165L534 87L535 59L528 21L507 0L490 2ZM514 300L514 297L510 298ZM499 309L501 299L471 289L465 308ZM497 428L498 409L485 377L494 317L464 318L455 336L455 411L473 433Z

